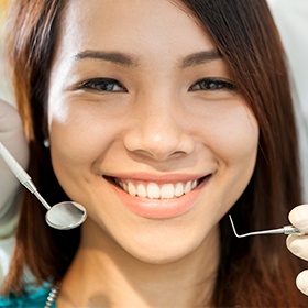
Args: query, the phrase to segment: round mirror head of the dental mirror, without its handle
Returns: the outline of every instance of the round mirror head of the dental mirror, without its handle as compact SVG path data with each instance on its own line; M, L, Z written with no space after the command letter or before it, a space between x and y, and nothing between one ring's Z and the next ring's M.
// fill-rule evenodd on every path
M46 213L46 222L58 230L74 229L80 226L86 218L86 209L73 201L54 205Z

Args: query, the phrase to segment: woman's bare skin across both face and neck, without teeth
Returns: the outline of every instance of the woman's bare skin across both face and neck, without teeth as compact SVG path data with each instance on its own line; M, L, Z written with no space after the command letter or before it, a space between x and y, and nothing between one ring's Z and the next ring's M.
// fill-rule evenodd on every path
M209 302L218 222L254 169L258 125L229 86L226 63L191 16L158 2L74 0L61 19L48 94L52 161L88 219L58 307ZM209 77L228 84L200 89L198 81ZM117 81L102 91L92 78ZM143 198L147 206L189 204L180 215L153 218L130 210L139 197L106 176L160 185L207 180L183 197Z

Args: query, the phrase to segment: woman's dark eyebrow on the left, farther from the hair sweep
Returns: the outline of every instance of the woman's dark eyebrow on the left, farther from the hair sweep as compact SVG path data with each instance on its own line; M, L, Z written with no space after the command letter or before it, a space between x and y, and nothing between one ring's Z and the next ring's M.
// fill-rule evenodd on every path
M102 52L87 50L76 54L73 57L74 61L80 61L84 58L113 62L116 64L120 64L128 67L138 66L138 61L133 56L119 52Z

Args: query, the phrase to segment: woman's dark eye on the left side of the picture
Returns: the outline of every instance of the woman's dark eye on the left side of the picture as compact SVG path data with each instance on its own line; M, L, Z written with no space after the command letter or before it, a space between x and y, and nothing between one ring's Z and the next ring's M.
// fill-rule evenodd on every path
M127 88L112 78L92 78L81 85L78 89L90 89L100 92L127 92Z

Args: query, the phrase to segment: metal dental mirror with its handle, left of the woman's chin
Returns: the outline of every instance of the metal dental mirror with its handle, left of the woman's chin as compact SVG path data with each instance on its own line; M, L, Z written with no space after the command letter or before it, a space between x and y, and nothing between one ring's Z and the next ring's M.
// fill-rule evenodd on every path
M47 209L45 219L48 226L58 230L68 230L80 226L86 220L86 209L79 204L73 201L65 201L51 207L37 191L35 185L31 180L30 175L15 161L15 158L2 144L2 142L0 142L0 156L3 158L4 163L15 175L19 182L28 190L30 190Z

